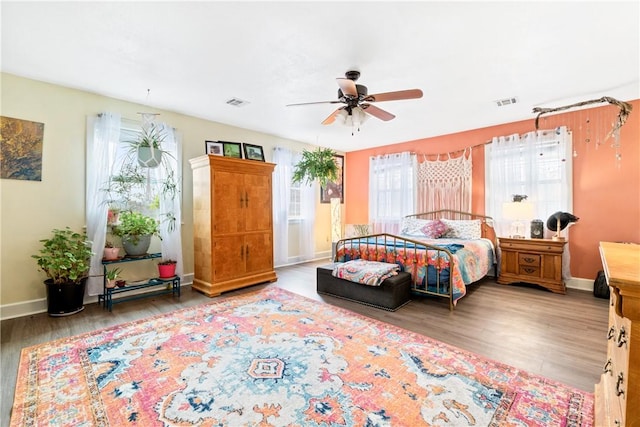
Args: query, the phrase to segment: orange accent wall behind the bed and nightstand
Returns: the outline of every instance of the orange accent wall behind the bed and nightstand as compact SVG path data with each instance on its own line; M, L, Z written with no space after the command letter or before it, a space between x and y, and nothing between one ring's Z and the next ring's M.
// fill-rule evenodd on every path
M595 135L596 130L606 128L597 120L611 117L608 113L615 107L602 106L543 116L544 120L541 119L541 129L567 125L573 132L577 156L573 159L572 213L580 220L571 226L569 250L571 274L576 278L595 279L598 270L602 269L598 252L601 241L640 243L640 100L631 104L633 110L620 133L620 162L615 160L615 151L611 147L613 139L604 141L605 135ZM604 109L608 109L608 115ZM593 122L587 125L589 117ZM473 146L472 205L474 212L484 214L484 143L494 136L523 134L534 129L534 120L531 119L348 152L345 157L344 222L368 222L371 156L403 151L446 155ZM597 147L596 138L600 139Z

